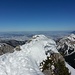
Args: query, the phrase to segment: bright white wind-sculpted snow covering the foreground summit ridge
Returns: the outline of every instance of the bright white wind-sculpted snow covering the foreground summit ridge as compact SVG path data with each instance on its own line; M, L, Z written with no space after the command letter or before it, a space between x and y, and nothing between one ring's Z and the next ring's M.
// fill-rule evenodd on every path
M46 52L58 53L56 43L44 35L35 35L21 51L0 56L0 75L43 75L39 64L46 59Z

